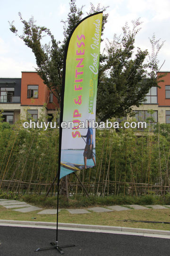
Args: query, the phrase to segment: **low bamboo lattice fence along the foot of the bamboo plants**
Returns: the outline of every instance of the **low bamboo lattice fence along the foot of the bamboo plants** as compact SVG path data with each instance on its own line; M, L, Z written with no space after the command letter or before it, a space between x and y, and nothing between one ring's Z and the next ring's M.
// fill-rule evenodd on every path
M28 182L19 180L0 180L2 185L2 191L14 192L16 194L46 194L51 183L46 182ZM92 196L111 196L111 195L131 195L142 196L147 194L161 195L164 193L170 193L170 186L153 185L149 183L125 183L119 181L103 180L101 183L82 182L89 195ZM102 187L105 187L105 193L102 193ZM57 183L54 183L53 189L50 195L55 196L57 189L55 187ZM29 190L28 190L29 188ZM149 190L149 193L148 193ZM68 182L68 194L69 196L82 194L82 185L78 182Z

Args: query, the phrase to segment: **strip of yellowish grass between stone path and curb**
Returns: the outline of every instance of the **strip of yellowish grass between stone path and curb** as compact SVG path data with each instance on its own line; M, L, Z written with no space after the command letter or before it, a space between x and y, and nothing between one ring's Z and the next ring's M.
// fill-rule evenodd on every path
M56 222L56 214L37 214L34 212L22 213L0 206L0 219L28 220L28 221L49 221ZM36 219L34 219L36 218ZM118 220L135 219L150 221L170 222L170 209L161 210L122 210L87 214L71 214L67 210L59 212L59 222L78 223L91 225L119 226L141 229L161 229L170 230L170 224L119 222Z

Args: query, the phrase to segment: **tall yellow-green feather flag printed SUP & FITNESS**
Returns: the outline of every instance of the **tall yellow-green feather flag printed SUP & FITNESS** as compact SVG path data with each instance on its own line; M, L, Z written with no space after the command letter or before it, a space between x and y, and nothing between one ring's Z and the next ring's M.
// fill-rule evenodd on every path
M102 12L81 20L68 38L63 68L59 179L95 166L96 96ZM61 125L61 123L60 123Z

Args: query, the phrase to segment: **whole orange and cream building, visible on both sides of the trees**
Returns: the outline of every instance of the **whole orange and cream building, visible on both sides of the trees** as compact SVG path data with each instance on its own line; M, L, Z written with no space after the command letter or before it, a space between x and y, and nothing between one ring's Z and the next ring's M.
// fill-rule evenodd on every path
M138 108L133 107L136 120L150 118L151 127L157 122L170 124L170 72L159 74L165 74L164 82L159 83L161 88L152 87L146 101ZM0 78L0 109L4 121L14 124L20 117L37 121L42 115L50 120L58 108L57 98L37 72L22 72L21 78Z

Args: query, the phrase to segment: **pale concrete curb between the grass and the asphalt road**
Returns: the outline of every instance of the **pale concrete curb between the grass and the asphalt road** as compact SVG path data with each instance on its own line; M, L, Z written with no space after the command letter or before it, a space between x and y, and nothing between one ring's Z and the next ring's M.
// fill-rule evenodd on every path
M45 222L45 221L25 221L25 220L8 220L0 219L0 224L21 224L21 225L34 225L36 226L49 226L56 227L56 222ZM87 225L87 224L74 224L74 223L59 223L59 228L76 228L76 229L97 229L97 230L108 230L108 231L120 231L120 232L132 232L132 233L145 233L145 234L157 234L170 236L168 230L158 229L136 229L126 227L114 227L114 226L100 226L100 225Z

